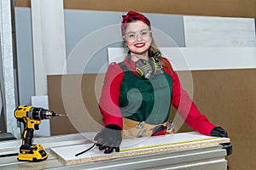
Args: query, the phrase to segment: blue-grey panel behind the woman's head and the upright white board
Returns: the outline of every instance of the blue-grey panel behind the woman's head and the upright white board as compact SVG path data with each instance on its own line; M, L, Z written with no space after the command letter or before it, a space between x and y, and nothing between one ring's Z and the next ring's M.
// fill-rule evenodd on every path
M121 33L117 33L115 30L109 31L108 27L116 26L116 30L120 31L119 22L122 14L121 12L73 9L66 9L64 11L68 74L96 73L105 72L107 70L107 48L123 47ZM164 32L167 37L172 37L172 44L170 44L170 41L158 41L158 45L164 47L184 47L182 15L147 14L147 16L152 20L152 23L154 23L153 26L156 27L159 32ZM31 96L35 95L31 8L15 8L15 18L20 103L23 105L31 105ZM95 19L101 21L93 22ZM81 22L81 20L83 21ZM88 26L89 23L90 26ZM88 41L86 38L92 37L93 41L99 38L102 40L103 37L98 37L98 35L104 34L104 31L108 32L105 33L105 35L107 34L110 37L119 36L119 39L113 42L113 40L109 38L109 42L106 41L102 43L101 41L96 44L91 43L91 48L87 46L87 50L84 50L84 48L81 48L80 51L78 50L83 42L86 43ZM157 38L158 36L156 36L156 41ZM101 43L102 46L99 47ZM91 50L88 50L89 48L95 48L96 51L90 53ZM74 65L71 64L71 60L74 59L73 57L79 61L75 62ZM88 62L86 65L82 65L80 59L88 59ZM79 66L80 64L81 66Z

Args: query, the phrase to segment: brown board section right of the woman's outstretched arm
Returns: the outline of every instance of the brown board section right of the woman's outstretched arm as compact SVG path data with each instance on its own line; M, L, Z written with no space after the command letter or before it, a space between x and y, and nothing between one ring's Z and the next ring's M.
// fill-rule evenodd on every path
M224 127L233 143L230 169L256 167L256 70L193 71L194 101L217 126Z

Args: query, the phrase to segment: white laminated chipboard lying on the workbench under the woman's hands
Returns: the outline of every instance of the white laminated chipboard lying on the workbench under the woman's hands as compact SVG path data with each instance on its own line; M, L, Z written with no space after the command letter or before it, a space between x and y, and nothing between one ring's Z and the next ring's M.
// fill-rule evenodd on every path
M90 148L93 144L78 144L66 147L52 148L51 152L66 165L103 161L124 156L137 156L143 154L156 153L166 150L184 150L195 147L211 146L221 143L229 143L228 138L218 138L203 135L201 133L174 133L163 136L149 138L123 139L120 144L120 152L104 154L95 146L92 150L75 156L77 153Z

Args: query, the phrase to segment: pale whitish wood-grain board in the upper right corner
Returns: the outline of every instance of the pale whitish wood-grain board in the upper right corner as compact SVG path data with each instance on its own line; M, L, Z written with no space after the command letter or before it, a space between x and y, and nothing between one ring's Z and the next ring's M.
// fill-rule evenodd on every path
M183 16L186 47L256 47L253 18Z

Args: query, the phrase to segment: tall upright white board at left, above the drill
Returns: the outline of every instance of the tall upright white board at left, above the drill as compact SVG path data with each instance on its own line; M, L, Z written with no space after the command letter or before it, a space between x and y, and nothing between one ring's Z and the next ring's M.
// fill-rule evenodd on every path
M47 94L47 75L66 73L66 44L63 1L34 0L32 47L35 94Z

